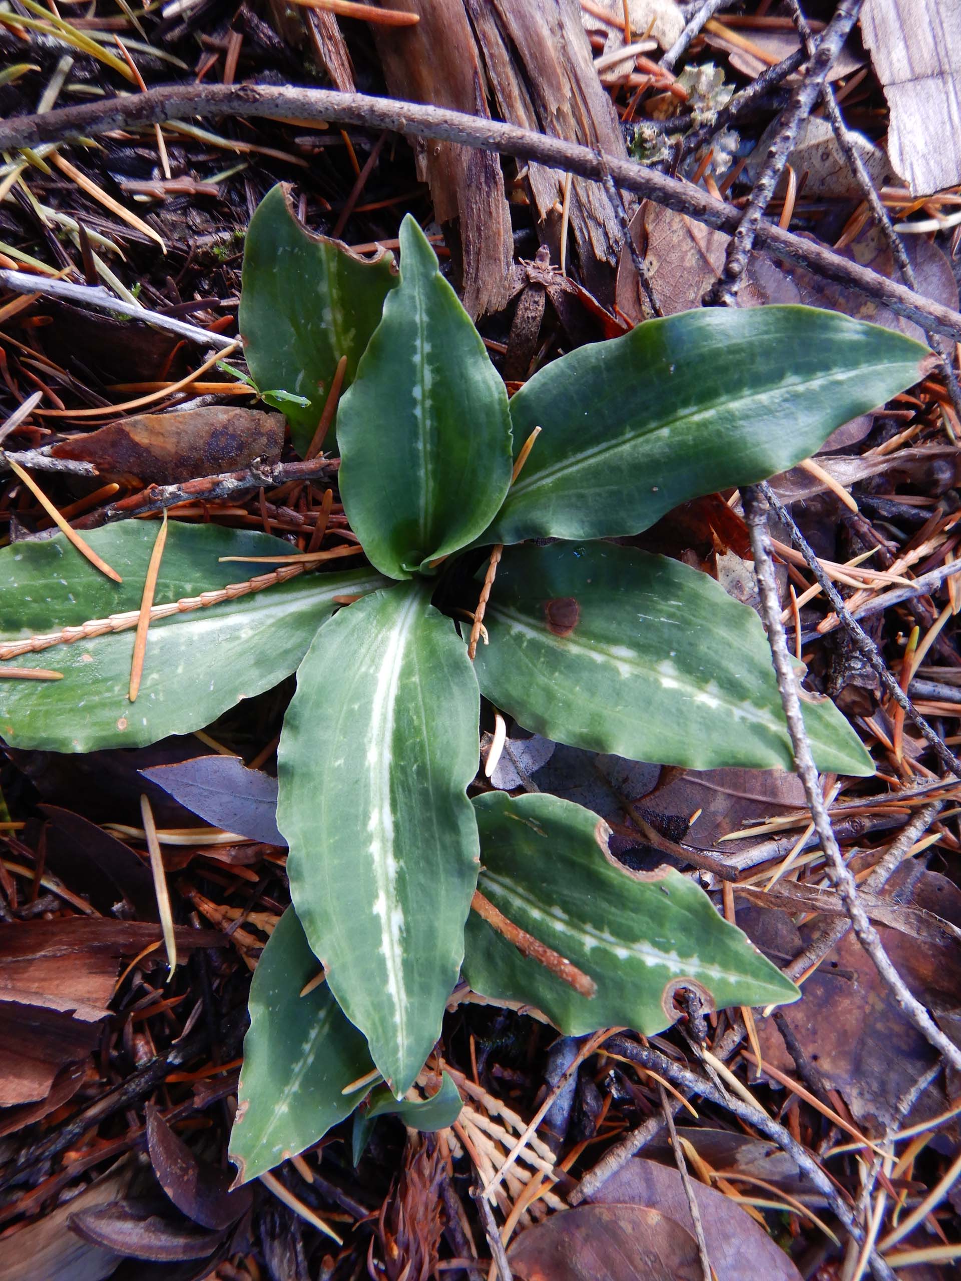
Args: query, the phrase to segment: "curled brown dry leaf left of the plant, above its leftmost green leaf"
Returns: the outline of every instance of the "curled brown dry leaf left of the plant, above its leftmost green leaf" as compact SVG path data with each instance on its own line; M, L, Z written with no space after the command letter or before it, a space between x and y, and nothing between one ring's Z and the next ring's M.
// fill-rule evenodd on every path
M277 462L283 415L231 405L172 414L136 414L51 448L56 459L92 462L108 479L178 484L197 477L240 471L254 459Z

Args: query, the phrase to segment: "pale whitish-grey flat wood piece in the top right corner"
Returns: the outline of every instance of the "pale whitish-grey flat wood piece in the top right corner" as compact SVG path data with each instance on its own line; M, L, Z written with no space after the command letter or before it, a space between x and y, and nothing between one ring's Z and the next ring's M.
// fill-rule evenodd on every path
M891 108L888 149L915 196L961 182L961 5L866 0L861 35Z

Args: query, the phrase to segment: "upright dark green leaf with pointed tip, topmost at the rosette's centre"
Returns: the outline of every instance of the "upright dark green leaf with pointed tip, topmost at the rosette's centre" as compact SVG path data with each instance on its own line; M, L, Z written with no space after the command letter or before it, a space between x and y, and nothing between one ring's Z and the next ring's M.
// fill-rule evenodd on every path
M481 336L414 219L400 286L337 414L338 484L381 573L410 578L495 518L510 484L510 415Z

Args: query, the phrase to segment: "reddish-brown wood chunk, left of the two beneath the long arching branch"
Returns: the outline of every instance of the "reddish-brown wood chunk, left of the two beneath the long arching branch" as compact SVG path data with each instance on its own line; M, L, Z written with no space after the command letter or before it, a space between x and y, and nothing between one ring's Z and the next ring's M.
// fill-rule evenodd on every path
M420 15L414 27L373 28L390 92L489 115L464 0L382 0L382 6ZM415 155L418 175L431 184L434 215L459 268L465 310L473 319L500 311L507 301L514 252L500 159L432 138L418 141Z

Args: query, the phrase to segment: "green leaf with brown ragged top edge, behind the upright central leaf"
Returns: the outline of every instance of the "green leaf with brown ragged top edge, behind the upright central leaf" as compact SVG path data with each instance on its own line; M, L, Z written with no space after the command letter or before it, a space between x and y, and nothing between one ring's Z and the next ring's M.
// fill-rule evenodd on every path
M308 397L297 405L264 392L287 415L301 455L314 437L341 356L347 357L345 387L354 379L383 300L397 283L392 264L393 255L386 251L364 259L341 241L311 234L295 218L281 183L250 220L240 306L243 355L258 387Z

